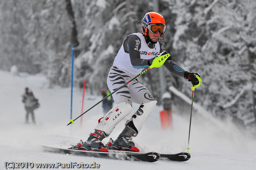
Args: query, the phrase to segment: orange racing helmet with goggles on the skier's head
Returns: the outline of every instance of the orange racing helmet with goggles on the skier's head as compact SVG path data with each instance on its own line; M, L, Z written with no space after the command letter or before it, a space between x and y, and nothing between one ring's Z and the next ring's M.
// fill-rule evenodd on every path
M157 12L148 12L141 20L142 32L144 36L148 36L148 31L153 33L160 32L160 37L166 29L165 20L161 14Z

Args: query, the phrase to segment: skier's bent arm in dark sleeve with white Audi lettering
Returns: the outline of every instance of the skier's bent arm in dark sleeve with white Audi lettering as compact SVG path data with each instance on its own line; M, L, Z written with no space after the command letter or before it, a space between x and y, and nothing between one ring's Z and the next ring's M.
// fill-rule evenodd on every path
M140 69L148 67L148 61L140 58L140 38L137 35L130 35L124 41L124 49L126 53L129 53L131 59L131 65L134 68Z

